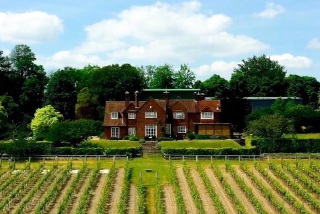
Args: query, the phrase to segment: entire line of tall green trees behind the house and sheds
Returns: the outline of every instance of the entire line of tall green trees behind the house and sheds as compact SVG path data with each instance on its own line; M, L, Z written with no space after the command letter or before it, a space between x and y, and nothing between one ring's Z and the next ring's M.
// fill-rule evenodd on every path
M140 66L113 64L65 67L47 73L35 64L26 45L16 45L9 56L0 50L0 138L19 127L30 130L35 110L51 105L63 120L103 120L105 101L123 100L124 92L144 88L200 88L206 96L221 99L223 122L245 127L247 96L295 96L318 109L320 83L314 77L286 76L285 68L265 55L243 60L229 81L217 74L201 82L187 65ZM132 97L133 99L133 97Z

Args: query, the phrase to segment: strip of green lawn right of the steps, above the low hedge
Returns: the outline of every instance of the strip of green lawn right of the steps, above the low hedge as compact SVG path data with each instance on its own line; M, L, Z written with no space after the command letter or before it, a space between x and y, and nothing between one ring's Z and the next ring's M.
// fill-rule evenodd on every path
M161 141L162 147L168 148L240 148L233 140L188 140L188 141Z

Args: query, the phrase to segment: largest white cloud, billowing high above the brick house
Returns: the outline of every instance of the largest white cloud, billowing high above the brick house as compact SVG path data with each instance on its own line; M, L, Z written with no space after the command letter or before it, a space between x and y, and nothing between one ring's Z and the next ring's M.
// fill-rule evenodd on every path
M190 63L202 56L237 56L268 48L248 36L227 33L231 18L208 16L200 8L198 1L133 6L114 19L85 27L86 41L75 50L104 53L113 61Z

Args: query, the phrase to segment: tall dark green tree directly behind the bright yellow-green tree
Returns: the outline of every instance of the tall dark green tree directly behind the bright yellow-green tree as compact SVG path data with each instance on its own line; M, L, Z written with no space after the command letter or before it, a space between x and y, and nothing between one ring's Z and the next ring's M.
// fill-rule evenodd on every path
M74 119L78 70L70 67L52 74L45 89L45 105L52 105L64 119Z

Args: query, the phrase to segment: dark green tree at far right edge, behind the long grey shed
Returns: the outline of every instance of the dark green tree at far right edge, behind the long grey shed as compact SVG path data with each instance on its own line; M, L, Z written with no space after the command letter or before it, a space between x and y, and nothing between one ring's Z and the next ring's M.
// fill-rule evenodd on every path
M302 98L302 104L318 107L318 92L320 83L314 77L292 75L285 77L286 94L290 97Z

